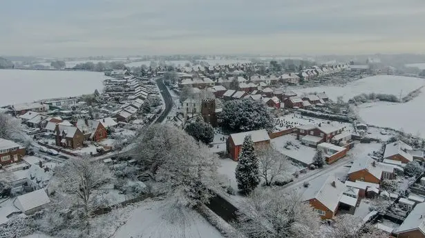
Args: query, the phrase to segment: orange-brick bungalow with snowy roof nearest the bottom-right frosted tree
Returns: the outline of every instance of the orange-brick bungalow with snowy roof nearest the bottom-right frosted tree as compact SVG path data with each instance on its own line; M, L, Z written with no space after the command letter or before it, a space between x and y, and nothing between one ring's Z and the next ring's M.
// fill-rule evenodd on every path
M314 211L319 213L321 219L334 219L345 191L346 185L334 175L329 175L310 181L302 197L303 201L308 201Z

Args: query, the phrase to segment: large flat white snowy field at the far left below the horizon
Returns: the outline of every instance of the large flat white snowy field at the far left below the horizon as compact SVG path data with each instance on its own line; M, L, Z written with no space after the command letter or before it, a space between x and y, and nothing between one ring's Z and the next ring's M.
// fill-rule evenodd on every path
M101 72L0 70L0 85L11 89L0 94L0 106L102 92L107 78Z

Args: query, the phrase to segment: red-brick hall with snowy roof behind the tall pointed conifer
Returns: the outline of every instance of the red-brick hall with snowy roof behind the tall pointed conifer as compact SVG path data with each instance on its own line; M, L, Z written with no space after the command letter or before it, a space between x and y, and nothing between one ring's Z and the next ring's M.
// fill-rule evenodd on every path
M270 145L270 137L267 130L252 130L249 132L234 133L227 138L227 152L234 161L238 161L239 152L242 149L243 140L247 135L251 135L254 146Z

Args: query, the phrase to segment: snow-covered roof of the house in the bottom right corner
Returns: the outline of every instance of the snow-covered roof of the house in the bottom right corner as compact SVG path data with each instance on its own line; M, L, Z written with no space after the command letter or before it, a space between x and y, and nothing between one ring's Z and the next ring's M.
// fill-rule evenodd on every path
M402 226L397 228L398 233L410 230L420 230L425 233L425 203L417 204L403 221Z

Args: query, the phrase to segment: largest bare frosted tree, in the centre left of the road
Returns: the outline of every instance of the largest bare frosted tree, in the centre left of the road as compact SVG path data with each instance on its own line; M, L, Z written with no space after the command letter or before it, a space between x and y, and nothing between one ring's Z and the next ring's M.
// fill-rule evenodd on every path
M158 181L157 191L173 197L177 204L207 203L212 196L209 191L220 186L218 158L183 130L155 124L136 141L133 156Z

